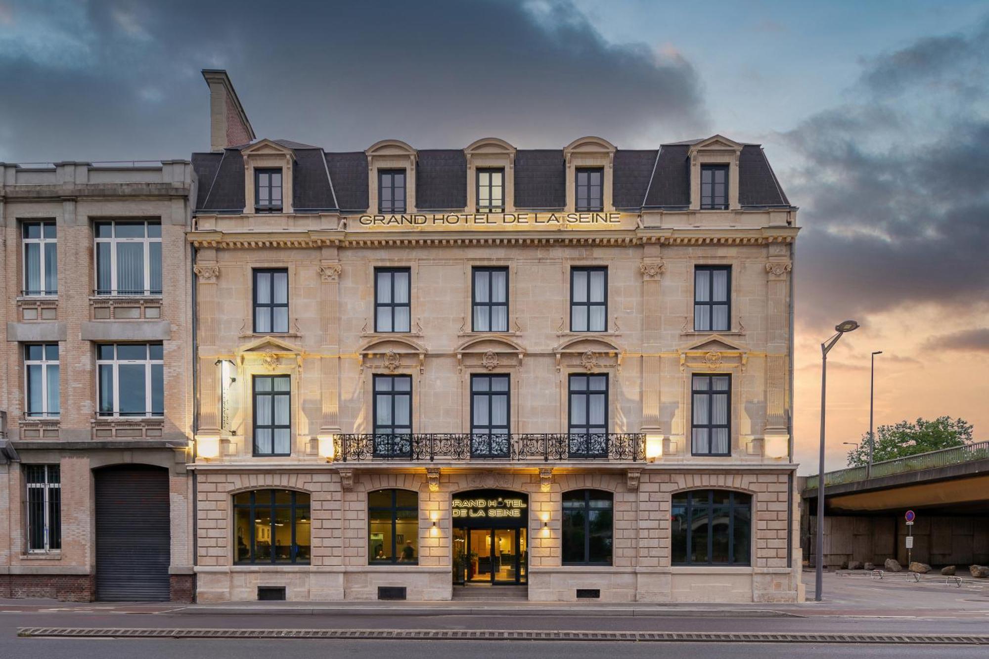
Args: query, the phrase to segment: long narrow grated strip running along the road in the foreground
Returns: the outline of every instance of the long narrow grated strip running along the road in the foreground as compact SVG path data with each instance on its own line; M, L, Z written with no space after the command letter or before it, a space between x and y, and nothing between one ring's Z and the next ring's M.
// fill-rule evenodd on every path
M509 629L153 629L20 627L18 636L82 638L346 638L395 640L922 643L989 645L989 634L839 634L731 631L539 631Z

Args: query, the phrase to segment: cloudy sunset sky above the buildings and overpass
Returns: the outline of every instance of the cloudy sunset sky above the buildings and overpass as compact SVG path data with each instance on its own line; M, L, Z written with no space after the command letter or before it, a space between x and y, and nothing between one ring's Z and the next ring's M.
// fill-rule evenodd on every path
M801 207L796 442L829 467L876 423L949 415L989 439L985 2L0 0L0 161L209 149L200 69L260 137L364 149L496 136L557 147L755 141Z

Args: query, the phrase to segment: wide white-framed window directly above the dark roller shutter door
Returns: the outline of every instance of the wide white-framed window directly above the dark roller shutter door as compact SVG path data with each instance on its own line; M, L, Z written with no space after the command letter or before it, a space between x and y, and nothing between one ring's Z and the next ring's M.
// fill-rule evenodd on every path
M101 417L162 417L165 412L161 343L100 343L96 369Z

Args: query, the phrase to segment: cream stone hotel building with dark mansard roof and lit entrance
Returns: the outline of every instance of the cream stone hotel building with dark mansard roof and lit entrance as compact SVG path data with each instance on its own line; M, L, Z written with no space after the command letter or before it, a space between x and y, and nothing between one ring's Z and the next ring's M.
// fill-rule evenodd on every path
M802 599L759 145L193 164L199 601Z

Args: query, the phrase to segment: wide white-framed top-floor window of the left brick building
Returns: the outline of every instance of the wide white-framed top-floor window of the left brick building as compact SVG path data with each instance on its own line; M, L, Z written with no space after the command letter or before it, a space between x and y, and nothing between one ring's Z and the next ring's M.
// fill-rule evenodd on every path
M96 294L161 295L161 223L97 222Z

